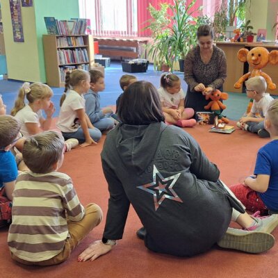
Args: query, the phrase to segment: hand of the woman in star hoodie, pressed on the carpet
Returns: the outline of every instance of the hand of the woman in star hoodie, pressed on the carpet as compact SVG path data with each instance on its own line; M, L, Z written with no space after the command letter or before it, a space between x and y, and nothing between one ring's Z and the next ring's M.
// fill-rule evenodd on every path
M95 261L99 256L110 252L112 245L104 244L101 240L96 240L94 243L89 245L80 255L77 261Z

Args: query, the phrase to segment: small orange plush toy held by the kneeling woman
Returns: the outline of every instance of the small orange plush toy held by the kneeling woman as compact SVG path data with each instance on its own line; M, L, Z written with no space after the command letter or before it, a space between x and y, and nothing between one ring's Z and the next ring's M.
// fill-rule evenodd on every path
M211 99L211 101L208 102L204 108L206 110L211 109L211 111L215 114L215 116L218 117L218 122L224 122L225 124L229 123L229 120L227 117L224 117L221 113L221 109L226 109L227 106L222 104L220 99L228 99L229 95L227 92L220 92L220 90L214 90L210 94L206 95L206 100Z

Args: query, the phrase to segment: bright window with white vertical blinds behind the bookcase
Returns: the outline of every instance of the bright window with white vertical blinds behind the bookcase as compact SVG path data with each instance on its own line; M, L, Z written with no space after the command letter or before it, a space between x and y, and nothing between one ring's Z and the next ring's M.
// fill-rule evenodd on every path
M137 0L79 0L79 13L90 19L93 35L138 35Z

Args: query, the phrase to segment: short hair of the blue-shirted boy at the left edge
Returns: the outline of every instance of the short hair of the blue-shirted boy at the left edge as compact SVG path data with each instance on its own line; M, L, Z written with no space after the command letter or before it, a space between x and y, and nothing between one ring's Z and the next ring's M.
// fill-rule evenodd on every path
M20 124L15 117L0 115L0 149L13 143L20 131Z

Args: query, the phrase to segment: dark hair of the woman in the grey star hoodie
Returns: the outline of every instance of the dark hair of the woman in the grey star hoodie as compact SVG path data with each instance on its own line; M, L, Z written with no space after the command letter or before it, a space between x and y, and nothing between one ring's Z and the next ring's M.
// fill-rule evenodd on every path
M152 83L137 81L129 85L120 100L118 115L124 124L164 122L158 92Z

